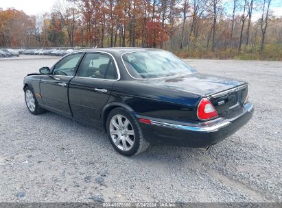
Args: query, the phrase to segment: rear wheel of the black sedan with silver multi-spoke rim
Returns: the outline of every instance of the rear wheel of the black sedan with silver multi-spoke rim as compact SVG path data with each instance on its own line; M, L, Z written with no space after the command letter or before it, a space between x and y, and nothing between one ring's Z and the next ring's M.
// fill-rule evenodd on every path
M143 138L138 120L124 108L117 107L108 114L106 130L110 144L121 155L138 155L150 145Z

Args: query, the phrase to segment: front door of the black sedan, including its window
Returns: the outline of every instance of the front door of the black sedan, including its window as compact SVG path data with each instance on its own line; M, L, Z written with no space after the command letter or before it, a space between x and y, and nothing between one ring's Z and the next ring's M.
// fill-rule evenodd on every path
M63 116L72 117L69 108L68 86L83 55L84 53L75 53L62 58L53 66L50 75L40 79L40 94L47 109Z

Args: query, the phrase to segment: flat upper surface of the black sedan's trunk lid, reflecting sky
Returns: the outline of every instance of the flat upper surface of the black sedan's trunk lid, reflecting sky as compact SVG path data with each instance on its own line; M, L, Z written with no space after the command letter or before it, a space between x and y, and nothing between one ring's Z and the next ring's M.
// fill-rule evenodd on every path
M149 79L144 82L161 88L200 94L202 96L228 90L246 83L244 81L228 79L226 77L200 73L192 73L180 77L168 77L164 79Z

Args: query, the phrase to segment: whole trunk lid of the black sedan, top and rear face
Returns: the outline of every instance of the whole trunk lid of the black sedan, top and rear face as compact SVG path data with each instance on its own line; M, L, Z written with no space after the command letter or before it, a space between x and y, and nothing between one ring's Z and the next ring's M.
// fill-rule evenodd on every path
M219 116L226 116L242 106L248 95L248 84L244 81L192 73L179 77L143 80L158 88L182 91L207 97Z

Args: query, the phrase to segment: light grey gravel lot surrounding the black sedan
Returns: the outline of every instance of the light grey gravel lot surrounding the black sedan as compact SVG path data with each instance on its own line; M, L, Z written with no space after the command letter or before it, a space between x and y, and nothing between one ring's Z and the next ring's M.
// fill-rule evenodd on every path
M0 60L1 202L282 201L282 62L186 60L201 73L248 81L252 120L208 151L152 145L124 157L103 131L28 112L23 77L56 60Z

